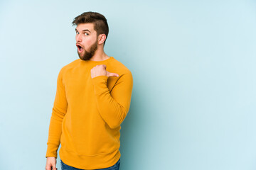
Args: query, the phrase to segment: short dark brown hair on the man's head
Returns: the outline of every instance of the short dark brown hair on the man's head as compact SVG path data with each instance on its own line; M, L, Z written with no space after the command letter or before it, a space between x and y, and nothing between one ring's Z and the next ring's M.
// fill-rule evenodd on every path
M105 34L106 40L107 40L109 28L107 25L107 19L102 14L97 12L91 12L91 11L82 13L80 16L75 17L74 21L72 22L73 26L78 26L78 24L80 23L93 23L94 29L97 32L97 36L100 34ZM104 45L105 45L105 42L104 42Z

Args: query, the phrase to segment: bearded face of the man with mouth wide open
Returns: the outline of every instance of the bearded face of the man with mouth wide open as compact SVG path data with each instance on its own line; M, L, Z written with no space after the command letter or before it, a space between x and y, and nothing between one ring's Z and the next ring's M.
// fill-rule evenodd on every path
M75 40L81 60L90 60L97 50L97 32L93 23L80 23L75 28Z

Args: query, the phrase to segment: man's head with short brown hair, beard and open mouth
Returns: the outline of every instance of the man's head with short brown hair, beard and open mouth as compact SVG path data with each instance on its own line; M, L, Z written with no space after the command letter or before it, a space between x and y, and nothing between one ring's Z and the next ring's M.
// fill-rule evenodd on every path
M107 19L100 13L85 12L74 18L78 55L81 60L90 60L98 45L105 45L109 28Z

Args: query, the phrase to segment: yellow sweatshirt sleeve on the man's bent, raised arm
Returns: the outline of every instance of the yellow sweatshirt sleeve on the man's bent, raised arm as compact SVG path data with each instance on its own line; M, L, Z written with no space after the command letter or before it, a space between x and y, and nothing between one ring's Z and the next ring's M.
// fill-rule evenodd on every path
M110 128L117 128L126 117L132 98L132 73L122 74L112 91L107 88L107 76L92 79L98 111Z

